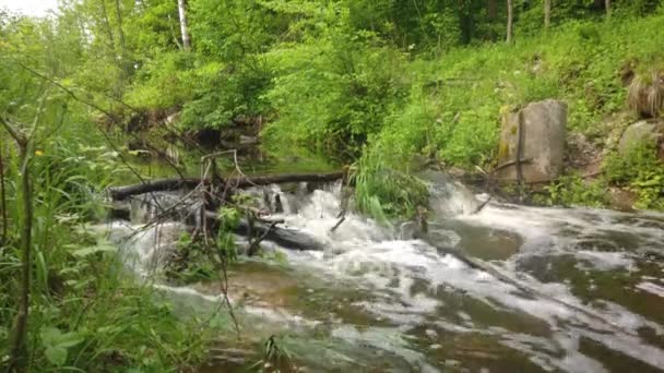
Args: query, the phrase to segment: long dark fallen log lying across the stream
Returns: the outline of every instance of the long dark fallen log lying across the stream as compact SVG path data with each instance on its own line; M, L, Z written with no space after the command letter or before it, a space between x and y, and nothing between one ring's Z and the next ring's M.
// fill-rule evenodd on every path
M256 185L278 184L285 182L331 182L343 179L344 171L327 172L327 173L285 173L285 175L268 175L252 176L224 179L229 186L249 188ZM108 189L110 197L115 201L121 201L137 194L151 192L177 191L181 189L194 189L199 184L209 184L210 179L198 178L170 178L151 180L139 184L112 186Z

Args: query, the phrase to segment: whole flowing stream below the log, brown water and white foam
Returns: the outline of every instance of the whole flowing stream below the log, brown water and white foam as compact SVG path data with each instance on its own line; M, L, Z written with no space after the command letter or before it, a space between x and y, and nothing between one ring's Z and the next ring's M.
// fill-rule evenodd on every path
M265 242L285 261L235 265L229 297L241 339L220 336L224 352L213 351L203 371L242 371L259 358L246 350L271 335L309 372L664 370L664 215L498 203L471 215L475 196L436 180L429 239L485 261L487 273L414 239L412 224L381 227L347 214L331 232L340 185L253 193L269 196L265 207L280 195L274 217L324 250ZM114 234L146 275L182 227L120 240L135 228L115 224ZM220 302L215 284L161 287L187 312Z

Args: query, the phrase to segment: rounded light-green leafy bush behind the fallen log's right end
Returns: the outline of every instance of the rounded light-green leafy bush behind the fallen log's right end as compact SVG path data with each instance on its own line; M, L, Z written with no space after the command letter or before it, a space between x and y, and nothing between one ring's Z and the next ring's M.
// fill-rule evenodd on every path
M347 10L330 9L313 35L282 44L268 59L274 86L265 98L278 117L266 137L298 142L341 157L356 157L381 128L389 104L403 95L398 74L404 56L381 45L369 32L348 29Z

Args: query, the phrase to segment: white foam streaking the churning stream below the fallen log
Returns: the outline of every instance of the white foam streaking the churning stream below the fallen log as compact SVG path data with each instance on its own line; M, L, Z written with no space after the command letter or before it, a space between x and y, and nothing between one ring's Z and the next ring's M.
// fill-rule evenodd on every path
M349 212L332 232L331 228L337 224L342 209L340 184L317 190L306 197L283 193L275 186L270 188L272 193L281 196L285 210L275 217L284 218L288 228L313 236L325 244L323 252L283 250L289 263L309 268L311 273L324 278L343 279L346 281L344 284L353 284L358 289L369 291L372 299L353 304L378 318L389 320L404 328L429 324L451 333L493 336L500 344L526 353L531 361L544 370L605 372L606 366L601 362L579 351L581 337L591 338L653 366L664 368L664 351L648 345L638 336L638 330L642 327L663 335L662 326L618 304L603 302L602 306L591 306L574 297L566 284L542 284L520 273L514 258L498 263L496 270L536 291L534 297L529 297L514 285L487 272L471 268L452 255L440 254L436 248L423 241L395 239L398 234L390 229ZM459 203L463 205L462 202ZM286 209L286 205L290 206L289 209ZM452 204L452 209L456 213L463 213L467 207L454 206L456 205ZM651 250L662 251L661 242L664 242L664 231L657 228L664 217L659 215L489 204L479 214L459 215L456 218L467 224L518 233L524 240L522 253L518 255L571 254L596 270L632 270L636 267L635 257L624 251L579 249L580 240L595 237L607 240L607 232L629 232L638 234ZM138 254L139 267L145 267L153 261L158 262L161 254L157 253L168 248L168 244L159 241L173 239L177 229L178 226L174 224L137 234L131 246ZM616 246L616 250L619 249L619 245ZM660 297L664 294L664 289L652 281L642 281L637 288ZM195 290L181 288L173 291L189 293ZM441 292L460 292L463 297L473 298L496 310L544 321L550 336L515 334L490 325L477 328L472 314L465 312L458 313L463 325L447 321L437 313L437 310L446 306ZM218 301L218 297L203 298ZM273 320L298 317L284 310L256 311ZM420 369L436 371L425 362L426 357L406 348L403 341L396 344L381 339L384 337L382 333L372 335L352 328L336 333L346 340L370 342L394 351L411 362L417 362Z

